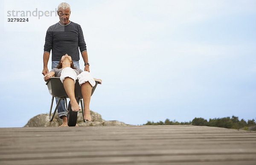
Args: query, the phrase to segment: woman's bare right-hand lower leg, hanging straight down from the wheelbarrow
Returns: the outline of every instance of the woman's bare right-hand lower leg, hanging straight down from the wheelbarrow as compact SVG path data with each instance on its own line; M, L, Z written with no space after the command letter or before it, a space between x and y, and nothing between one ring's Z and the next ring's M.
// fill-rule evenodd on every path
M92 119L90 116L89 104L90 96L92 93L92 86L88 81L81 85L81 93L84 100L84 119L90 122Z

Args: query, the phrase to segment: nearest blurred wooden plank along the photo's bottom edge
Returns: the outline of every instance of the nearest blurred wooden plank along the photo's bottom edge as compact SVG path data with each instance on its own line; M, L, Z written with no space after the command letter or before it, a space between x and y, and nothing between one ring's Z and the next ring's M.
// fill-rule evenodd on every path
M54 158L48 157L42 159L30 159L30 160L13 160L13 161L1 161L3 164L140 164L140 163L177 163L182 162L188 164L190 162L226 162L239 161L243 164L243 161L256 162L255 154L248 155L207 155L207 156L115 156L115 157L69 157L66 158ZM207 164L206 163L206 164Z

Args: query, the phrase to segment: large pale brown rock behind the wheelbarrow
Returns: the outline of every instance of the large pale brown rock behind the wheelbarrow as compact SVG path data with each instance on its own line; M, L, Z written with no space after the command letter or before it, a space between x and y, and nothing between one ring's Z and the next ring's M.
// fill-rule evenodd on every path
M117 120L105 121L102 119L102 116L99 113L93 112L90 110L90 116L92 118L91 122L83 122L82 112L79 111L77 115L77 125L78 126L114 126L114 125L128 125L124 122L119 122ZM48 120L49 114L40 114L29 120L29 122L24 127L58 127L62 124L62 119L58 118L58 115L55 114L52 122Z

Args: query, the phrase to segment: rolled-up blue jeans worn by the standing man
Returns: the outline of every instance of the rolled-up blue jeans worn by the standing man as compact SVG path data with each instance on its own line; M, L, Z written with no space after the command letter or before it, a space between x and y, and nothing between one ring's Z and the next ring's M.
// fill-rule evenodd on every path
M56 68L58 66L58 63L59 61L52 61L52 69L53 68ZM79 61L74 61L73 60L73 63L74 63L74 66L78 69L80 69L79 67ZM55 98L55 101L56 101L56 104L58 102L58 98ZM64 100L61 100L60 104L58 105L58 117L60 119L62 119L62 116L66 116L67 117L67 110L65 108L65 101Z

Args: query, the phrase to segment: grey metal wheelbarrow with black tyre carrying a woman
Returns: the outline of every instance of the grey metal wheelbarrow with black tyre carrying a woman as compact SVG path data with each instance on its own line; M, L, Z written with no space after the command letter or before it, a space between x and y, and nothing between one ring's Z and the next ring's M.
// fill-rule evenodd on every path
M99 81L95 81L95 82L96 82L96 84L95 84L95 86L92 89L92 94L91 95L93 95L94 90L97 87L97 84L99 84ZM53 118L55 116L55 113L57 111L58 105L60 104L60 101L64 100L65 108L68 111L67 124L68 124L68 126L76 126L77 112L73 112L73 110L71 110L70 102L69 102L69 104L67 106L67 98L68 98L68 96L67 96L67 93L66 93L66 91L64 89L63 84L61 83L60 78L59 77L51 77L47 81L46 85L48 87L50 95L52 95L52 102L51 102L51 107L50 107L50 112L49 112L49 122L52 122L52 120L53 120ZM58 102L56 104L56 107L55 107L55 110L54 110L53 114L51 115L54 97L59 98L59 100L58 100ZM81 87L79 85L78 80L76 80L76 83L75 83L75 97L76 97L76 99L78 99L77 102L81 103L81 110L82 110L82 114L84 116L83 97L82 97ZM84 122L86 122L86 120L84 120Z

